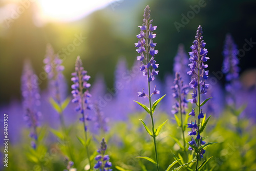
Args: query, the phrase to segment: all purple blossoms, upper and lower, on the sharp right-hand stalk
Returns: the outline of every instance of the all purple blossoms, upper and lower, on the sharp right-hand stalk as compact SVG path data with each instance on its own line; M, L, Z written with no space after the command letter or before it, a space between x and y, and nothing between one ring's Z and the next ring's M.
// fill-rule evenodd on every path
M207 89L209 88L209 84L205 83L205 80L208 78L208 72L209 72L205 70L208 67L208 65L206 65L205 62L209 58L206 56L208 51L207 49L205 49L206 43L203 40L202 34L203 34L202 27L199 26L197 30L197 34L195 36L196 39L193 41L193 45L190 47L192 51L189 52L189 55L190 55L189 61L191 63L188 65L190 71L188 71L187 74L191 76L191 81L189 83L189 86L190 88L193 89L193 93L191 93L192 99L189 99L191 103L197 103L197 97L198 97L198 101L200 101L200 94L206 94ZM198 124L201 125L202 123L200 123L200 119L204 118L204 113L202 109L200 111L200 107L201 107L200 104L197 103L197 105L199 106L198 108L199 123ZM196 116L195 109L192 109L189 115ZM191 128L191 131L188 132L188 135L197 136L196 138L198 141L200 140L201 145L205 144L205 142L202 141L202 137L199 133L199 127L198 125L196 125L196 122L188 123L188 127ZM197 144L194 138L191 139L189 144L196 145L197 147L199 146L199 142ZM189 149L191 150L192 148L189 147ZM200 152L200 157L202 157L204 153L205 153L205 150L202 149L202 151ZM197 154L197 156L199 157L199 153Z

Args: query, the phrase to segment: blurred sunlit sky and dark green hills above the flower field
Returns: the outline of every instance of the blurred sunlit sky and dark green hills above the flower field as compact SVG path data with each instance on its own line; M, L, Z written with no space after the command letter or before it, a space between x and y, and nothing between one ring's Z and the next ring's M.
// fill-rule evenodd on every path
M238 49L244 49L246 39L256 41L255 1L202 1L204 7L191 19L183 21L192 11L190 6L200 1L1 1L0 30L0 103L20 99L20 76L24 59L30 59L38 75L44 71L42 60L46 45L50 43L55 53L65 58L64 74L71 85L70 73L74 70L77 55L84 61L92 75L102 74L108 87L113 87L114 69L120 57L128 67L136 59L134 42L142 24L143 9L152 9L154 24L158 26L156 42L159 50L159 73L163 79L172 73L173 59L178 44L183 43L186 52L194 40L197 27L202 26L210 58L209 71L221 71L223 45L226 33L231 33ZM193 16L193 15L192 15ZM179 31L175 22L180 23ZM74 40L80 36L81 42ZM74 46L73 44L77 44ZM78 45L79 44L79 45ZM251 49L241 52L240 73L252 72L244 81L255 84L255 43ZM246 46L247 48L247 46ZM252 81L254 80L254 82ZM220 82L223 83L224 79ZM47 81L40 88L46 89Z

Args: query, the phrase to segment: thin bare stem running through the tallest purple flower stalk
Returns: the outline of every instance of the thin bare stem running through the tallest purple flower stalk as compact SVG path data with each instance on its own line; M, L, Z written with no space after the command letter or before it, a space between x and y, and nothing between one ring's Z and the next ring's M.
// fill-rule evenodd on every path
M148 24L147 24L148 25ZM147 27L148 28L148 27ZM147 63L149 62L148 59L148 29L146 29L146 60ZM150 78L150 69L147 67L147 80ZM154 140L154 148L155 148L155 157L156 157L156 165L157 165L157 171L159 171L159 163L158 163L158 155L157 155L157 143L156 143L156 137L155 137L155 126L154 126L154 119L153 119L153 112L152 112L152 104L151 104L151 93L150 93L150 81L148 82L148 96L149 96L149 102L150 102L150 117L152 122L152 132L153 132L153 140Z

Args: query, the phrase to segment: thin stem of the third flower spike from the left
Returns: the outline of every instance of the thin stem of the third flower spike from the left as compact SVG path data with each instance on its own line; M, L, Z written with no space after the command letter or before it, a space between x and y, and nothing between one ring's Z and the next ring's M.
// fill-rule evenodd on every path
M81 77L81 71L78 71L78 77L79 77L79 80L82 80L82 77ZM87 137L87 131L86 131L86 120L85 120L85 117L84 117L84 100L83 100L83 87L82 87L82 81L79 81L79 89L80 89L80 97L81 97L81 107L82 107L82 117L83 117L83 130L84 130L84 138L86 139L86 152L87 152L87 157L88 157L88 160L89 160L89 165L90 165L90 170L92 169L92 165L91 165L91 161L90 161L90 152L89 152L89 147L88 147L88 144L87 144L87 141L88 141L88 137Z

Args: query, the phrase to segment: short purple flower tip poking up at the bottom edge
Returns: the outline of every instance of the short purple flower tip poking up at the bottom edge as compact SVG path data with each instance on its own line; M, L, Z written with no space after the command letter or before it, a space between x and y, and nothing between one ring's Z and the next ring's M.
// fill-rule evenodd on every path
M112 163L109 161L110 157L109 155L105 155L106 152L106 141L104 138L102 138L102 141L100 142L100 148L97 150L99 155L95 157L95 160L97 163L94 165L94 168L99 168L100 171L112 171L110 167L112 166Z

